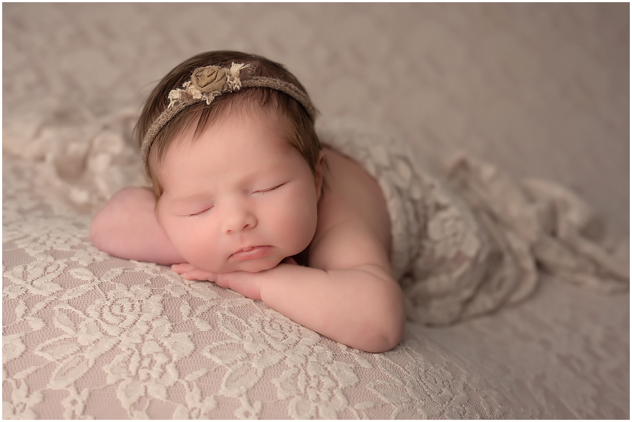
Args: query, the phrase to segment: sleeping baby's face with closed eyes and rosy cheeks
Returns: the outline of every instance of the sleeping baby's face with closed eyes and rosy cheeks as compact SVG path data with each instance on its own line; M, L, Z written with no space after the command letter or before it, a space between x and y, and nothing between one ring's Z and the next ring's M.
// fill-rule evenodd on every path
M257 272L312 241L322 177L271 121L263 111L222 117L193 142L185 132L157 166L156 216L190 264Z

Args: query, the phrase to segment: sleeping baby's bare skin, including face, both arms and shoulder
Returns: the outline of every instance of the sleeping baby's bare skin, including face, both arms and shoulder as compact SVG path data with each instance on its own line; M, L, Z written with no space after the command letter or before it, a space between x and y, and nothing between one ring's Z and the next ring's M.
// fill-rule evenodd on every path
M173 144L159 166L165 190L158 204L150 190L121 190L95 216L92 242L119 257L174 264L185 279L214 281L262 300L353 348L393 348L405 314L391 276L390 220L379 185L331 148L321 153L314 180L298 151L272 148L278 139L262 130L267 120L260 117L216 124L195 143ZM239 145L241 140L248 144ZM201 156L206 158L196 167ZM283 164L275 167L277 158ZM233 167L222 169L224 163ZM241 178L250 173L255 182ZM195 200L186 196L189 191ZM270 246L248 249L262 244ZM309 267L286 259L307 245Z

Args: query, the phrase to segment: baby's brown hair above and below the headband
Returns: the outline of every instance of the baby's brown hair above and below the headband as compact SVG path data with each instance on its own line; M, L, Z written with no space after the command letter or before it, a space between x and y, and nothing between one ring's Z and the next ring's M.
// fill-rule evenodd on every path
M143 107L134 127L133 136L137 139L138 146L142 144L143 138L154 120L167 108L169 92L180 88L183 83L188 81L193 70L211 65L230 67L233 62L252 64L254 67L252 76L281 79L295 85L307 94L303 85L293 74L289 73L288 69L282 64L265 59L265 57L237 51L209 51L198 54L178 64L167 73L147 98L145 107ZM224 112L228 112L232 107L241 107L246 103L256 103L264 109L273 109L276 112L279 119L284 122L283 129L286 132L286 141L301 153L315 176L320 142L314 131L313 119L301 103L289 95L271 88L243 88L217 97L210 105L200 102L185 108L158 132L151 147L152 156L157 158L157 162L160 162L176 134L181 132L184 127L197 124L195 132L193 132L193 139L196 139ZM154 185L154 194L158 199L162 195L162 186L155 177L155 172L151 171L151 165L150 178Z

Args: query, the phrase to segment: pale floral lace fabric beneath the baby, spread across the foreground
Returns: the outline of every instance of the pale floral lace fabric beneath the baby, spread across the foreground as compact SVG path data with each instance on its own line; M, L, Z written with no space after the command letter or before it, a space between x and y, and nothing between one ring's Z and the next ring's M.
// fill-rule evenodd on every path
M370 354L90 245L3 157L3 418L626 418L629 296L560 283ZM544 315L544 316L543 316Z

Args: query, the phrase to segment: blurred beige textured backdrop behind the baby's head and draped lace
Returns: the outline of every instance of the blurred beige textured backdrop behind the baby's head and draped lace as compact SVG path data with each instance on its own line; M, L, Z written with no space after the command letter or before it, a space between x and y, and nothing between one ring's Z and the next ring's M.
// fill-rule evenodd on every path
M289 67L322 116L576 189L629 230L629 5L4 4L3 112L140 107L204 50ZM78 84L78 86L77 86Z

